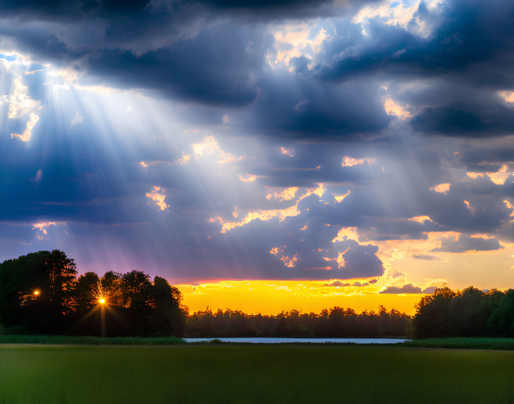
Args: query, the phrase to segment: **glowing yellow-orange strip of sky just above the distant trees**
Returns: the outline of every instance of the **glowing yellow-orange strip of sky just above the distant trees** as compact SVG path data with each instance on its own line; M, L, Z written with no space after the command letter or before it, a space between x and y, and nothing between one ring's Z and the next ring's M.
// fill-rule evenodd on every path
M458 233L455 233L458 234ZM248 314L271 315L282 310L302 310L319 313L324 308L340 306L353 308L358 313L363 310L378 310L383 305L388 310L394 308L408 315L414 315L414 305L425 293L380 293L387 287L401 287L412 284L424 290L431 286L442 286L457 290L467 286L480 289L512 287L514 270L512 244L501 243L504 247L492 251L467 251L448 253L430 251L440 246L442 237L453 237L453 233L429 233L427 240L372 241L379 246L377 256L384 264L381 277L352 280L253 280L223 281L199 285L176 285L183 293L183 303L190 313L221 308L242 310ZM361 242L362 243L362 242ZM413 258L415 254L433 255L433 260ZM376 280L375 283L369 283ZM347 284L346 286L326 286ZM339 282L339 283L337 283ZM355 283L362 286L354 286Z

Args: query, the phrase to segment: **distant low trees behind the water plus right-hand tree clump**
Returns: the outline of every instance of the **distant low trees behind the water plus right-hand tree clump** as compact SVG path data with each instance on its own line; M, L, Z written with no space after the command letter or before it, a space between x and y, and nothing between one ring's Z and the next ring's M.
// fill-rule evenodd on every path
M191 337L379 337L407 338L507 337L514 338L514 289L480 290L469 286L453 291L436 288L415 305L411 317L383 306L377 313L356 313L334 307L320 314L291 310L276 315L207 308L187 320Z

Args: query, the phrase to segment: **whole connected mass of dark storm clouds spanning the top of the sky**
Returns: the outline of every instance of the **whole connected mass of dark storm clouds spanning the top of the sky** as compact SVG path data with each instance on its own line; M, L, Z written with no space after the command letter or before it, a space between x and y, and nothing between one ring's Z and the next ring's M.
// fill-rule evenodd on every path
M39 59L56 60L85 72L82 80L121 88L159 90L165 97L208 105L241 107L255 104L252 133L319 137L386 130L386 115L377 96L377 81L437 77L431 87L465 83L465 91L445 105L427 105L423 93L404 100L420 110L410 119L414 130L450 136L490 136L514 128L511 109L494 91L514 84L512 64L512 13L508 2L456 1L434 14L420 3L414 19L433 25L424 39L399 26L384 25L375 17L366 24L369 38L359 25L342 24L343 36L323 44L318 63L301 56L291 59L295 75L271 74L266 54L274 39L260 24L287 16L302 19L327 10L341 17L364 6L350 2L333 7L329 2L21 2L6 3L7 15L30 16L20 29L6 20L0 33ZM350 10L350 11L349 11ZM64 14L69 17L64 17ZM246 15L248 14L248 15ZM69 19L75 19L70 23ZM336 18L337 19L337 18ZM22 19L23 21L23 19ZM53 21L53 23L47 23ZM413 20L411 25L415 25ZM341 24L339 24L341 25ZM328 26L326 28L329 28ZM328 81L329 83L323 83ZM334 87L334 81L346 82ZM398 93L395 86L393 93ZM458 93L457 93L458 94ZM393 94L395 95L395 94ZM397 94L400 99L401 94ZM475 102L469 99L483 99ZM421 101L423 100L423 101ZM304 104L302 104L304 103ZM443 105L441 105L443 104Z

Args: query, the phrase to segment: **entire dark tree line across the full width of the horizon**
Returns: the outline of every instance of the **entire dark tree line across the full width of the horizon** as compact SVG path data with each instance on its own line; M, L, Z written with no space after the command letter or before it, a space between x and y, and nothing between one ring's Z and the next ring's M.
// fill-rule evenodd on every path
M209 308L189 315L182 293L142 271L78 275L63 251L0 264L0 332L189 337L514 337L514 289L436 288L411 317L395 309L282 311L263 316Z

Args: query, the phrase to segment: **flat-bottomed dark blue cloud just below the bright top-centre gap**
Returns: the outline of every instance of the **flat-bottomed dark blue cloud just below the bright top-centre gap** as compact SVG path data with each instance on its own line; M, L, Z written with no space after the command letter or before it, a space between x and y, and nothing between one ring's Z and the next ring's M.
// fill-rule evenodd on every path
M255 105L254 122L261 133L272 130L291 137L341 138L385 130L391 121L376 83L335 86L287 75L264 77L259 85L263 96Z

